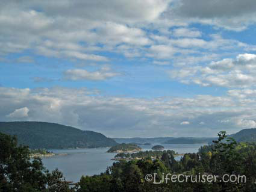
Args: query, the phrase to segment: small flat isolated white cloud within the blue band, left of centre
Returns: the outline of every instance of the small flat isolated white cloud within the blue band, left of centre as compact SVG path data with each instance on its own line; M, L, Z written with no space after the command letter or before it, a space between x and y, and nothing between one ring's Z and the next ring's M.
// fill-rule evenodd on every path
M111 72L108 67L102 67L100 70L95 72L89 72L86 69L68 69L64 72L64 79L78 81L78 80L92 80L102 81L105 79L113 78L114 76L120 75L119 73Z

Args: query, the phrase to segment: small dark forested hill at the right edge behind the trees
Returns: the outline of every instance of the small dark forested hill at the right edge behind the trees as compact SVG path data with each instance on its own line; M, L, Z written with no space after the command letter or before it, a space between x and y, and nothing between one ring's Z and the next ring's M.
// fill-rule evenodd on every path
M229 135L239 142L255 142L256 141L256 129L242 129L236 134Z

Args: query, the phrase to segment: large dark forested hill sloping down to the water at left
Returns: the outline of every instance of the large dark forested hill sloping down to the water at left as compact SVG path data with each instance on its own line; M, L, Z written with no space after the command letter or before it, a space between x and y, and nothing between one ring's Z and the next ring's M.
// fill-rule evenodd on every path
M28 145L31 149L110 147L117 144L101 133L82 131L57 123L0 122L0 132L17 135L19 143Z

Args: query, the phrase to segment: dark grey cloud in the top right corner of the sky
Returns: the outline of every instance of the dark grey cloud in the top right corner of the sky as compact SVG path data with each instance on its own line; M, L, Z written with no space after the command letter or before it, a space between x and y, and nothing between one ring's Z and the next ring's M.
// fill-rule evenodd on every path
M169 17L201 22L234 31L241 31L256 22L255 1L176 1L169 8Z

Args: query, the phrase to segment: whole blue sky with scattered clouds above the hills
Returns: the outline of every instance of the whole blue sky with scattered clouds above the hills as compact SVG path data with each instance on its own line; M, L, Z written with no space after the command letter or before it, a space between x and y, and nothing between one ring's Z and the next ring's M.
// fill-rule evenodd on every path
M0 121L107 137L256 128L255 0L0 2Z

